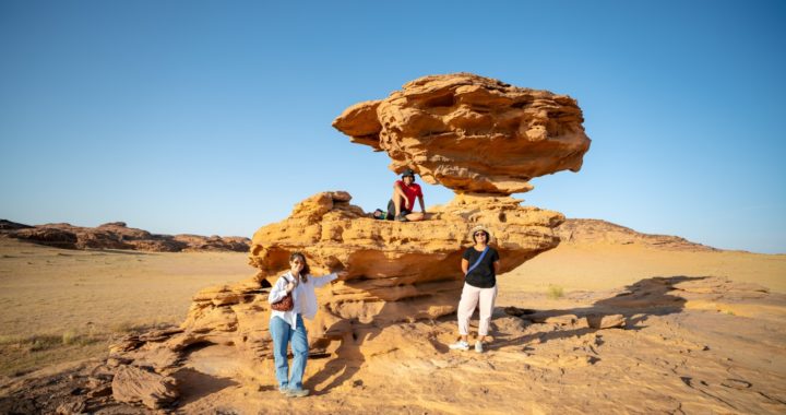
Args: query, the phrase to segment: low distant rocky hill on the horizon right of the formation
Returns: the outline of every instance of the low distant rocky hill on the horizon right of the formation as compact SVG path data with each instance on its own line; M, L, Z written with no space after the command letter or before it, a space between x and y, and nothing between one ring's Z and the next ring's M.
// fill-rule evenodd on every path
M678 236L642 234L599 220L567 220L555 230L561 244L567 245L630 245L679 251L717 251Z

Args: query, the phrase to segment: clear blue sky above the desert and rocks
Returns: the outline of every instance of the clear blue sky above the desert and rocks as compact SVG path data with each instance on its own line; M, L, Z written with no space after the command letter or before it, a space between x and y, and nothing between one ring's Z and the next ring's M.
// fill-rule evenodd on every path
M372 211L389 158L332 120L473 72L584 110L583 169L524 204L786 252L785 4L0 0L0 218L251 236L323 190Z

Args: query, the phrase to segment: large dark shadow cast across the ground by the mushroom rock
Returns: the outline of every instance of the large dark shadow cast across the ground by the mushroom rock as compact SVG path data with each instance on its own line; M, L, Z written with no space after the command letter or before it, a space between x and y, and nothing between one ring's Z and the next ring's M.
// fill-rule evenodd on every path
M545 343L582 336L609 328L638 331L646 327L642 323L652 316L666 316L681 312L684 309L686 299L671 294L678 289L675 287L676 284L704 278L707 276L676 275L644 278L626 286L621 293L612 297L595 301L590 307L549 310L497 307L495 317L513 316L534 324L557 325L558 330L514 336L512 333L499 331L498 327L492 323L490 334L499 341L495 341L488 348L526 345L536 339L540 343Z

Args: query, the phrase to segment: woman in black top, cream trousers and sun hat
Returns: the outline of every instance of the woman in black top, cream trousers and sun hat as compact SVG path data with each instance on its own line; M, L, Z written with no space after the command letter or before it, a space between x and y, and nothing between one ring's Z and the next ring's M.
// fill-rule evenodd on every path
M467 248L462 256L462 271L464 271L464 289L458 301L458 334L461 340L450 345L452 349L468 351L467 335L469 334L469 318L475 307L480 304L480 321L478 339L475 342L475 352L483 353L484 341L488 335L497 299L497 271L499 271L499 253L488 246L491 234L483 226L472 229L475 245Z

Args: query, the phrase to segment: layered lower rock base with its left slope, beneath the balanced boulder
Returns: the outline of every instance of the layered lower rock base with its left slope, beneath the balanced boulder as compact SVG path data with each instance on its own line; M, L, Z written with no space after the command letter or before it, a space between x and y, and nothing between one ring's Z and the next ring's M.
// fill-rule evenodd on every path
M352 334L358 324L386 325L454 312L463 284L458 264L464 247L471 245L473 226L483 223L493 233L500 271L508 272L555 248L559 239L552 228L564 220L557 212L523 208L509 197L462 195L431 210L429 221L377 221L350 200L347 192L335 191L298 203L288 218L254 234L254 277L201 290L178 331L129 336L112 351L136 361L142 356L154 359L159 368L196 344L234 345L253 360L270 356L267 319L260 316L270 310L269 287L288 266L289 254L301 251L314 275L347 272L343 281L318 292L321 309L307 322L310 352L329 353L338 346L332 341ZM151 357L154 354L169 357Z

